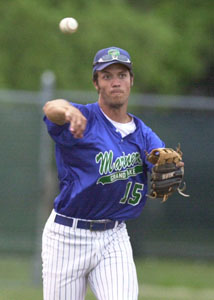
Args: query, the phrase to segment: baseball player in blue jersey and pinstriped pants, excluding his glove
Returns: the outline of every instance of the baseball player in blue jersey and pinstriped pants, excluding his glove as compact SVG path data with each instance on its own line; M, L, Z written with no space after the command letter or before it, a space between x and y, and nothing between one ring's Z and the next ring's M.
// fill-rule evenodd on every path
M60 182L43 233L45 300L83 300L87 283L99 300L138 298L125 221L145 205L145 152L164 143L127 113L133 79L127 51L102 49L93 63L98 102L44 106Z

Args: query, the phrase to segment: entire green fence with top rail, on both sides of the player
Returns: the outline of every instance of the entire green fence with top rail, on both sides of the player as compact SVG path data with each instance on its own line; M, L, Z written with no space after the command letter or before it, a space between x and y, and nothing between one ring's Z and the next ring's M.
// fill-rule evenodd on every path
M48 84L40 93L0 91L0 252L40 251L58 187L42 102L59 96L82 103L97 99L92 92L54 92ZM142 215L127 223L135 255L213 259L213 99L133 95L129 111L167 146L181 144L191 195L173 195L164 204L147 201Z

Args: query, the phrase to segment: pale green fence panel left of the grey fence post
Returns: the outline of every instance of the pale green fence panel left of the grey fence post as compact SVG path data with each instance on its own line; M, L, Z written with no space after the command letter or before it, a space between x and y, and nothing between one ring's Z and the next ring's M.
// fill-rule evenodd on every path
M39 199L39 109L0 105L0 249L32 250Z

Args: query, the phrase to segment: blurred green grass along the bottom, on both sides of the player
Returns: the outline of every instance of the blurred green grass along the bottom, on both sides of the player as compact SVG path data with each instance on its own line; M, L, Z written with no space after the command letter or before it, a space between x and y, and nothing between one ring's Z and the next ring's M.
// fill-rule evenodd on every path
M213 300L214 262L138 259L139 300ZM29 258L0 258L0 300L42 300ZM90 290L86 300L95 300Z

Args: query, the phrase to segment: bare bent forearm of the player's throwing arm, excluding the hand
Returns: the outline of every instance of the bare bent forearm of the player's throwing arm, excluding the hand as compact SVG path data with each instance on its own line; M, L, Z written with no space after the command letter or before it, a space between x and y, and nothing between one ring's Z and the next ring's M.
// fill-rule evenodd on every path
M66 120L66 112L70 110L71 107L68 101L57 99L46 102L43 111L50 121L58 125L63 125L68 122L68 120Z

